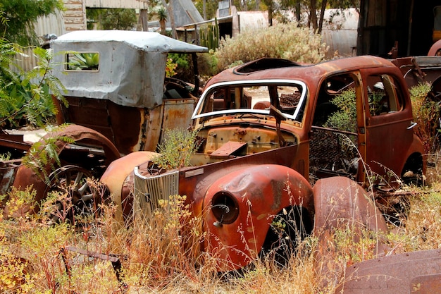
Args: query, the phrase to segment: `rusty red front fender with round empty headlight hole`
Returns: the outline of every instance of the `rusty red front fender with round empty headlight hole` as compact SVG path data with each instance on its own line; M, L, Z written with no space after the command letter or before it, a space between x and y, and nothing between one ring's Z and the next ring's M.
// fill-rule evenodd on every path
M237 206L237 218L228 223L213 213L213 202L220 195L229 195ZM228 173L212 183L203 200L204 229L208 233L204 251L220 257L221 271L240 269L258 256L275 215L285 207L300 206L312 220L312 188L297 171L261 164Z

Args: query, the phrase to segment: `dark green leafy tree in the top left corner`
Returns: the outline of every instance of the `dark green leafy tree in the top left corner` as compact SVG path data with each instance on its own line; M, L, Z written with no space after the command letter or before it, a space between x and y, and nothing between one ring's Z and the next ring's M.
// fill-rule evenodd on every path
M0 23L2 37L21 46L39 45L34 25L40 16L63 10L63 0L0 0L6 22Z

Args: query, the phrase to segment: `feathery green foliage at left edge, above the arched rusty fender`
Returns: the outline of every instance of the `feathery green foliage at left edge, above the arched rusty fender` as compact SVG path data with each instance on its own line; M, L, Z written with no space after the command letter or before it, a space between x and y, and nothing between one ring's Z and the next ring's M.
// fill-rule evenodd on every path
M37 66L23 71L16 66L15 59L29 56L23 54L22 47L0 41L0 126L17 128L32 125L42 128L51 123L56 114L52 96L67 104L63 97L65 88L51 75L54 66L51 64L51 51L35 47L32 52Z

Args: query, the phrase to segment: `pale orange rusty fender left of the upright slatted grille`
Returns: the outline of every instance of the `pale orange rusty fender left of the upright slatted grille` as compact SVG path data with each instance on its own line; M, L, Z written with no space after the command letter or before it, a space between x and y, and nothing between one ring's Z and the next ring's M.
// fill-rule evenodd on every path
M124 223L132 209L133 199L130 195L133 185L133 169L158 155L149 151L132 152L113 161L101 176L101 182L106 185L111 200L116 204L115 219L119 223Z

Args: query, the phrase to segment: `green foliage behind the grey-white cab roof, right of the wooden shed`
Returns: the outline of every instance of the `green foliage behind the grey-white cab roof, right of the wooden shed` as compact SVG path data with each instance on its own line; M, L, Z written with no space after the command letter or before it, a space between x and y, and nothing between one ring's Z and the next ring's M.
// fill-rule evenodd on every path
M93 8L86 11L89 30L132 30L137 24L135 9Z

